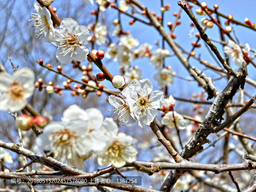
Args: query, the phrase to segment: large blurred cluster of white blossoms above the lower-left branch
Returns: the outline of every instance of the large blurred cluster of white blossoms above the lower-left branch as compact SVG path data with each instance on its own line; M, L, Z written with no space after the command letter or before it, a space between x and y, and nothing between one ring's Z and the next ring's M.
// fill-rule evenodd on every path
M83 110L71 105L64 111L61 122L49 123L44 128L37 144L79 169L92 152L98 154L99 165L119 168L134 162L137 150L131 145L132 137L118 134L118 130L113 118L104 119L98 109Z

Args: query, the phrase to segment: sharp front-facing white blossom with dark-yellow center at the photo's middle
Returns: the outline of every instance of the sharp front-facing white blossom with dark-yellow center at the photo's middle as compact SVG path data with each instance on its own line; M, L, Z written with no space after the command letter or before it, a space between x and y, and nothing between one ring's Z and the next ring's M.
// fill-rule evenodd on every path
M153 85L149 79L142 79L135 84L137 95L133 100L126 98L129 105L135 100L133 107L134 117L138 120L138 124L142 127L140 120L145 125L150 125L154 117L158 115L157 109L163 105L163 92L154 91Z

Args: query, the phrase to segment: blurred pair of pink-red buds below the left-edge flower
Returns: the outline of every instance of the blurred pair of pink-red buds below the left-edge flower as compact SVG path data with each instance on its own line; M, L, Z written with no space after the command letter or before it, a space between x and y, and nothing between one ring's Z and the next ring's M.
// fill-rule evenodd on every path
M48 120L43 116L29 116L22 114L16 119L16 127L23 131L28 131L33 125L44 128L48 124Z

